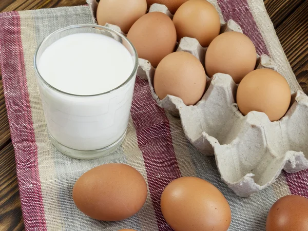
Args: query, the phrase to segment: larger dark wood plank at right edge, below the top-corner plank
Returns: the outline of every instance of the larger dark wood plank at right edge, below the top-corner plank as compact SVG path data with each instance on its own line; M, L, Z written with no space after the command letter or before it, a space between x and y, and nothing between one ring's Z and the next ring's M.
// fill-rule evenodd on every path
M308 94L308 1L288 16L276 32L297 81Z

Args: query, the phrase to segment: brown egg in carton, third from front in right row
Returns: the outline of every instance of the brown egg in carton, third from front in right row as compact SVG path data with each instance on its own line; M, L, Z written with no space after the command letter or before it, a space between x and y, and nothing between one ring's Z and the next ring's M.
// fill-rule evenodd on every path
M208 47L220 31L217 10L204 0L190 0L184 3L177 10L173 22L178 42L182 37L194 37L203 47Z

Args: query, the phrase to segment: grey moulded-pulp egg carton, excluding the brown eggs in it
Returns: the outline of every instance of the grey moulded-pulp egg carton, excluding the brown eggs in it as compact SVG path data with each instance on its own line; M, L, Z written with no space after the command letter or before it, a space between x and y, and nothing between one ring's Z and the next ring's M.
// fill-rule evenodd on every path
M87 3L95 20L97 2ZM173 17L164 5L153 4L149 12L155 11ZM105 26L123 33L118 26ZM233 20L221 25L220 32L227 31L242 33ZM203 65L206 49L195 38L184 37L177 44L177 51L193 54ZM256 69L259 68L277 71L276 64L266 55L257 57ZM181 118L191 144L204 155L215 156L222 180L236 195L248 197L266 188L275 182L282 169L297 172L308 168L308 97L302 91L292 95L284 117L271 122L262 112L242 115L236 104L238 85L228 74L207 77L206 91L194 106L186 106L172 95L160 100L153 88L155 68L147 60L139 59L137 74L148 80L158 105Z

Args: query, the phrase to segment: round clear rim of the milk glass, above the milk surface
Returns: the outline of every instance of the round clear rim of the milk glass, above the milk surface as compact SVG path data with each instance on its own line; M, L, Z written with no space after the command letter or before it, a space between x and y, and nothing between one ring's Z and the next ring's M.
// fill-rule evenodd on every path
M59 34L63 31L67 31L67 30L71 30L71 29L74 29L74 28L82 28L82 27L98 27L98 28L101 28L101 29L104 29L110 33L113 33L113 34L116 34L118 36L120 36L123 40L125 40L129 45L130 47L132 48L133 50L133 53L134 53L134 57L135 57L135 62L134 62L134 68L132 70L132 72L130 73L130 75L128 76L128 78L119 86L109 90L109 91L106 91L106 92L103 92L103 93L98 93L98 94L86 94L86 95L80 95L80 94L72 94L72 93L69 93L69 92L65 92L65 91L62 91L62 90L59 90L57 89L56 87L52 86L51 84L49 84L41 75L40 71L38 71L38 68L37 68L37 55L38 55L38 52L41 51L42 49L42 46L47 42L47 40L49 40L50 37L54 36L55 34ZM38 45L38 47L36 48L36 51L34 53L34 70L35 70L35 73L36 75L38 76L38 78L43 81L44 84L46 84L48 87L50 87L51 89L57 91L57 92L60 92L60 93L63 93L63 94L67 94L67 95L72 95L72 96L77 96L77 97L94 97L94 96L99 96L99 95L104 95L104 94L108 94L112 91L115 91L123 86L125 86L136 74L137 72L137 69L138 69L138 65L139 65L139 61L138 61L138 53L137 53L137 50L136 48L132 45L132 43L128 40L127 37L125 37L123 34L121 34L120 32L118 31L115 31L109 27L105 27L105 26L101 26L101 25L96 25L96 24L78 24L78 25L71 25L71 26L68 26L68 27L64 27L64 28L61 28L59 30L56 30L54 31L53 33L49 34L41 43L40 45Z

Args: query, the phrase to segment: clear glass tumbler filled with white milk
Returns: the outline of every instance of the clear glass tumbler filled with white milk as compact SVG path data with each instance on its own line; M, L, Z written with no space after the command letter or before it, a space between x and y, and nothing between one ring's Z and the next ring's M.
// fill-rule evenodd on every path
M65 155L96 159L125 138L138 55L121 33L73 25L38 46L34 69L52 144Z

